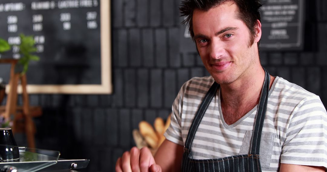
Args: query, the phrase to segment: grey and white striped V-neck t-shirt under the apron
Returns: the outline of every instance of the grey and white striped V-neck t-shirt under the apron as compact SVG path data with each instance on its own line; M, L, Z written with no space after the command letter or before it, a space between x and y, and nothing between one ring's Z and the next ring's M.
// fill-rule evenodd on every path
M198 106L213 82L211 76L196 77L182 86L165 133L168 140L184 145ZM228 125L217 92L196 132L193 159L248 154L256 111L257 106ZM260 163L263 171L278 171L280 163L327 167L327 113L319 96L276 77L269 91Z

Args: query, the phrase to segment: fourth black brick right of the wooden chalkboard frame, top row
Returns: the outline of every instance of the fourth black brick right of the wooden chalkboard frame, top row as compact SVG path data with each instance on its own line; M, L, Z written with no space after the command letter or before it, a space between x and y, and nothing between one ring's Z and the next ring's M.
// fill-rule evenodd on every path
M159 26L161 24L161 0L150 0L150 25Z

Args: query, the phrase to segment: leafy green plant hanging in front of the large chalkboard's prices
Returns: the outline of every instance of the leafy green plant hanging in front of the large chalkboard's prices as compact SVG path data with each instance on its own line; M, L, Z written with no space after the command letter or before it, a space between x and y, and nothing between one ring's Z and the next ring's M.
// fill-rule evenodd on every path
M28 64L31 60L39 61L40 57L33 55L31 53L36 52L36 48L34 46L33 36L25 36L24 34L20 34L21 44L19 45L19 53L22 55L19 59L19 63L23 66L23 71L21 75L24 75L28 69Z

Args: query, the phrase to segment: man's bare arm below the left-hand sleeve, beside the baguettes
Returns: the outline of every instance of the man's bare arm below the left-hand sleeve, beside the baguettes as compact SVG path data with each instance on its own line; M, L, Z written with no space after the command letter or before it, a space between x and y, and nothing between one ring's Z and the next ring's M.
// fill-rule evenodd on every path
M181 171L181 162L183 158L184 146L164 140L154 159L156 164L160 165L163 172Z

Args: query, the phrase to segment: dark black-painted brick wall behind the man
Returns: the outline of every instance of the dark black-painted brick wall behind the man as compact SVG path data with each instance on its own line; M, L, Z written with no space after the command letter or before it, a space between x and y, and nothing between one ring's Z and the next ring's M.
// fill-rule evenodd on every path
M112 0L112 95L30 95L41 149L87 158L84 171L114 171L138 122L166 118L181 85L205 76L198 54L179 52L180 0ZM272 75L320 95L327 104L327 1L305 1L303 51L260 53ZM95 76L96 77L96 76ZM18 136L18 134L17 134ZM22 137L22 138L21 138ZM18 136L26 144L24 136Z

